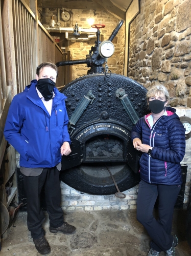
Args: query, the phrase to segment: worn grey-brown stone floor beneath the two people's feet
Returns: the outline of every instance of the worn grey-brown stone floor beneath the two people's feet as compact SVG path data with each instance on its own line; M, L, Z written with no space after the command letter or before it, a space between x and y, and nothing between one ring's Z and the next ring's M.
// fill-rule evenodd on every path
M73 235L49 232L49 221L44 222L45 237L51 246L50 256L146 256L150 238L136 220L136 210L105 210L67 212L64 220L77 227ZM173 233L179 244L176 256L191 255L185 239L186 211L175 209ZM36 256L37 252L27 228L27 213L19 212L7 239L2 239L4 256ZM164 252L160 253L164 256Z

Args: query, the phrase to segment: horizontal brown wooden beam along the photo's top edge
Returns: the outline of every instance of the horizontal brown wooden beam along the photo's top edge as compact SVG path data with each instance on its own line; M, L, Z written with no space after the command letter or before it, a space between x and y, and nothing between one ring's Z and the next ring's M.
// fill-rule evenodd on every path
M97 1L38 0L38 7L93 10L102 8Z

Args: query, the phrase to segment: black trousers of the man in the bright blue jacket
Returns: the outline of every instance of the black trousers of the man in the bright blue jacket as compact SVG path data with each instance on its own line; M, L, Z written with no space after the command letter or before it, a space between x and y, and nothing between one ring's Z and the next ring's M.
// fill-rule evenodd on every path
M40 207L40 193L45 190L45 201L51 227L60 227L63 224L63 211L61 203L61 188L59 171L56 167L44 168L38 176L23 175L23 184L27 194L27 225L33 239L44 235L42 222L44 214Z

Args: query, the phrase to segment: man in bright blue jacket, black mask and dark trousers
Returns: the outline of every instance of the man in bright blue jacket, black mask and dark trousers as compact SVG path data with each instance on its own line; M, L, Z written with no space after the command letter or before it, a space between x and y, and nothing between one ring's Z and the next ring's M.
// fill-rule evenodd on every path
M50 232L76 232L74 226L63 221L60 206L61 156L68 155L71 150L66 96L55 87L57 76L55 64L45 62L37 67L36 80L14 96L4 130L6 140L20 153L20 171L28 203L28 229L41 254L51 251L41 226L45 219L40 208L43 186Z

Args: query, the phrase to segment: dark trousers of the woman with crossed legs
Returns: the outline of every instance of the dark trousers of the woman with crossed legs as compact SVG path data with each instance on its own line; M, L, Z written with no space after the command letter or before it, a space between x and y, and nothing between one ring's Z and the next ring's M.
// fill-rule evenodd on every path
M152 241L151 248L166 251L172 247L173 211L181 186L149 184L141 181L137 198L137 220L146 228ZM153 216L155 202L159 200L159 219Z

